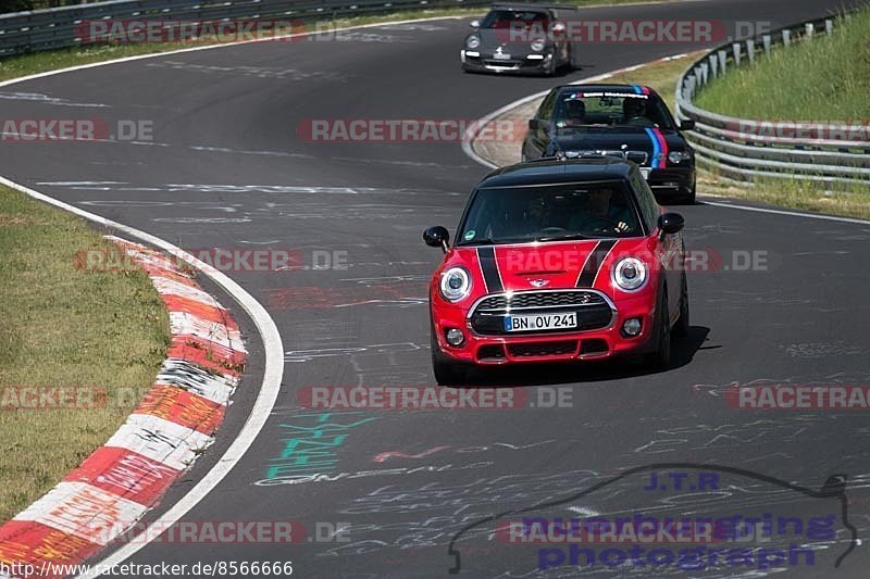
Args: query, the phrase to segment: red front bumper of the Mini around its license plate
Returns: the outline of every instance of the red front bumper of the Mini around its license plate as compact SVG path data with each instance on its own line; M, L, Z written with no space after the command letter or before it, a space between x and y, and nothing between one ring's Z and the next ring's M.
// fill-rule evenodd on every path
M655 294L621 299L606 327L548 333L482 335L472 327L468 309L443 304L433 306L432 315L438 347L444 356L464 364L489 366L597 360L647 352L654 345L650 336L654 335L655 304ZM548 311L557 312L559 310ZM621 328L632 317L642 319L642 331L638 336L627 337L622 333ZM445 332L450 328L462 330L465 336L462 345L452 347L447 343Z

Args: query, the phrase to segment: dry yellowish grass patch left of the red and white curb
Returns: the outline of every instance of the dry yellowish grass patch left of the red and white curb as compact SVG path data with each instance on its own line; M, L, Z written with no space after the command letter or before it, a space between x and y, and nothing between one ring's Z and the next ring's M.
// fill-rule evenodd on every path
M75 267L77 251L101 248L116 251L78 217L0 187L0 521L105 442L163 361L169 319L147 275ZM67 387L83 407L57 407Z

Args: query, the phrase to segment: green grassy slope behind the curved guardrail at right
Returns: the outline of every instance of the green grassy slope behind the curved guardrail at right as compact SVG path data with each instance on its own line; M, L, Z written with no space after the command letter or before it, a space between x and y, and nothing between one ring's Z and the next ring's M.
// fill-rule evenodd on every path
M856 122L870 117L870 7L837 20L833 36L774 48L698 93L701 109L737 118Z

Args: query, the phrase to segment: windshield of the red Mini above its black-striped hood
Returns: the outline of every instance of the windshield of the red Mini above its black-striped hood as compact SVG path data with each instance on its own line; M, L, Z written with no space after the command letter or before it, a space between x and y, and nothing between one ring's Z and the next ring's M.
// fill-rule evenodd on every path
M634 237L637 214L621 180L480 189L458 246Z

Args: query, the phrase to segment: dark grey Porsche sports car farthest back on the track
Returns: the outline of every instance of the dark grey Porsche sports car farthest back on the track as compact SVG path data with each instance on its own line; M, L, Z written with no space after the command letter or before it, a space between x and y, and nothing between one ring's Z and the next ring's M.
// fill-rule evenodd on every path
M460 51L468 72L552 75L574 66L572 43L564 22L574 7L495 4L483 21L471 23Z

